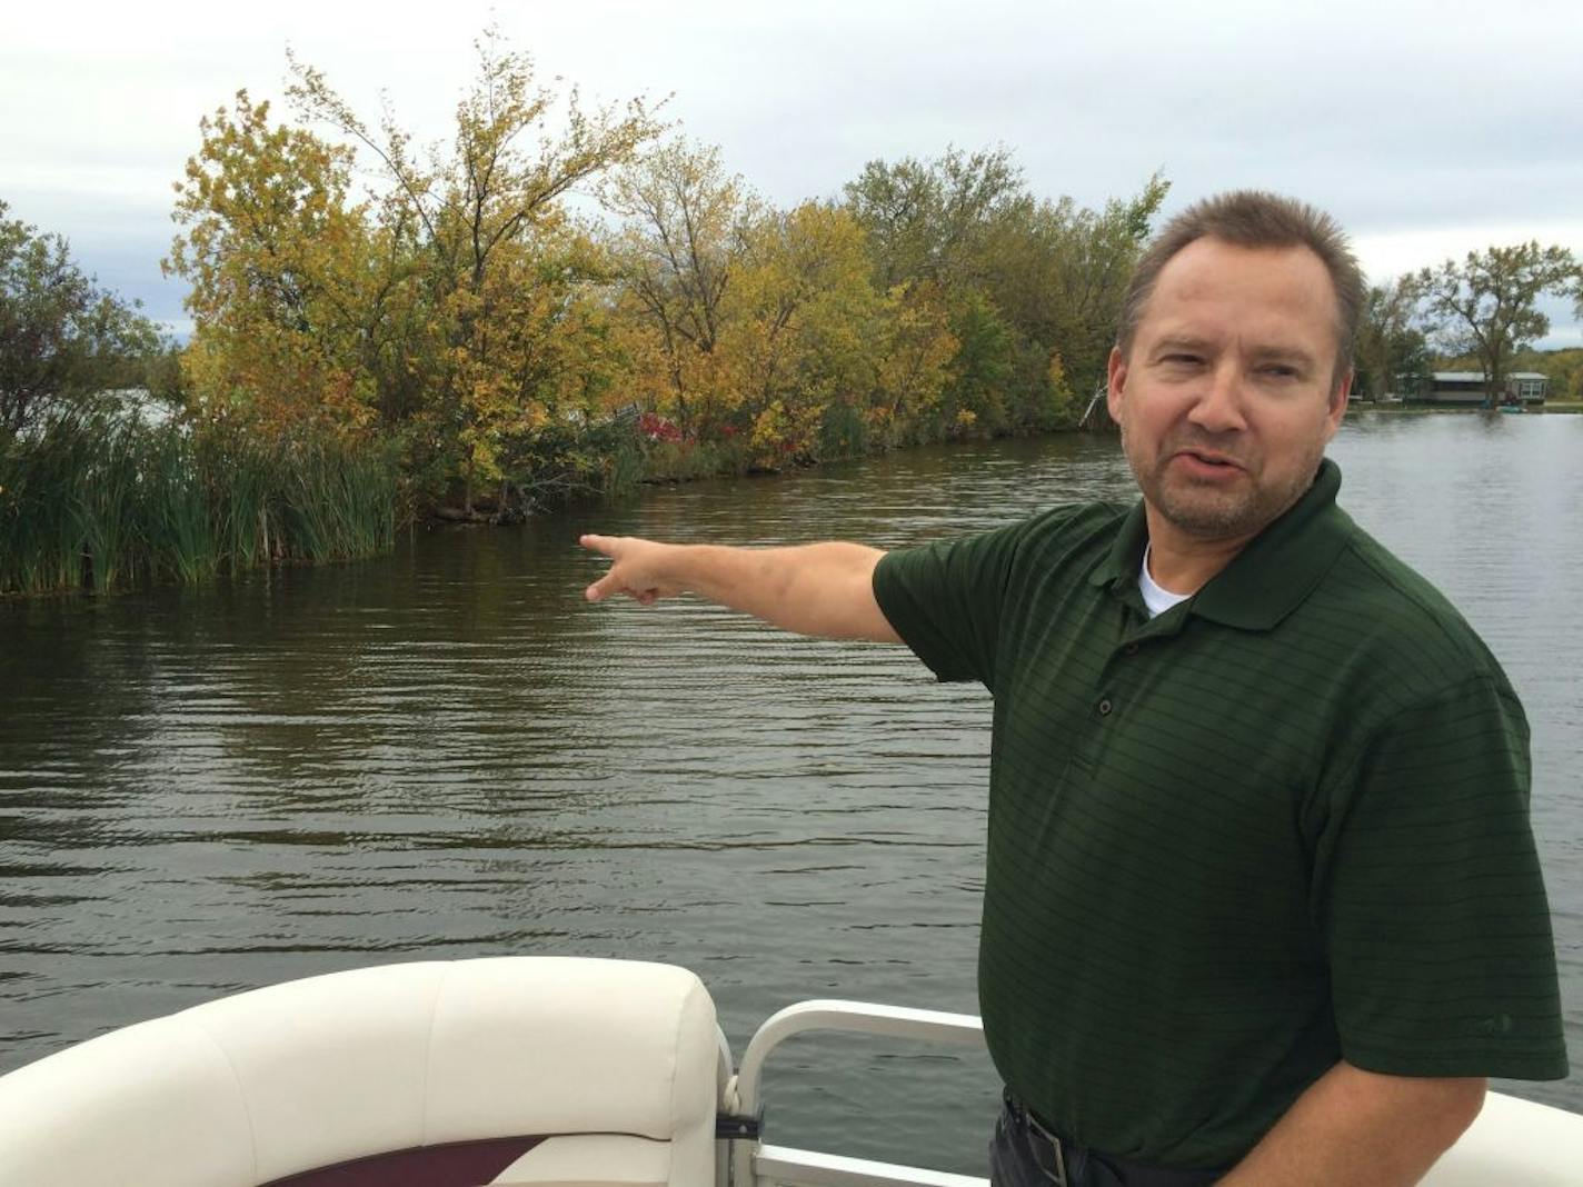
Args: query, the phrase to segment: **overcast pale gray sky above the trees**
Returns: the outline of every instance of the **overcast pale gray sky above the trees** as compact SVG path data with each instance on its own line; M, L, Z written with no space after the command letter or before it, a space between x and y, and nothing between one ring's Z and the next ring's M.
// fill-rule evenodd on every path
M769 199L829 196L864 161L1005 144L1031 188L1102 203L1154 171L1168 210L1262 187L1334 214L1374 279L1537 237L1583 253L1577 0L207 0L8 6L0 198L101 285L185 326L160 279L198 119L277 98L285 49L361 112L386 90L446 133L491 14L589 100L673 95ZM1570 305L1543 345L1583 345Z

